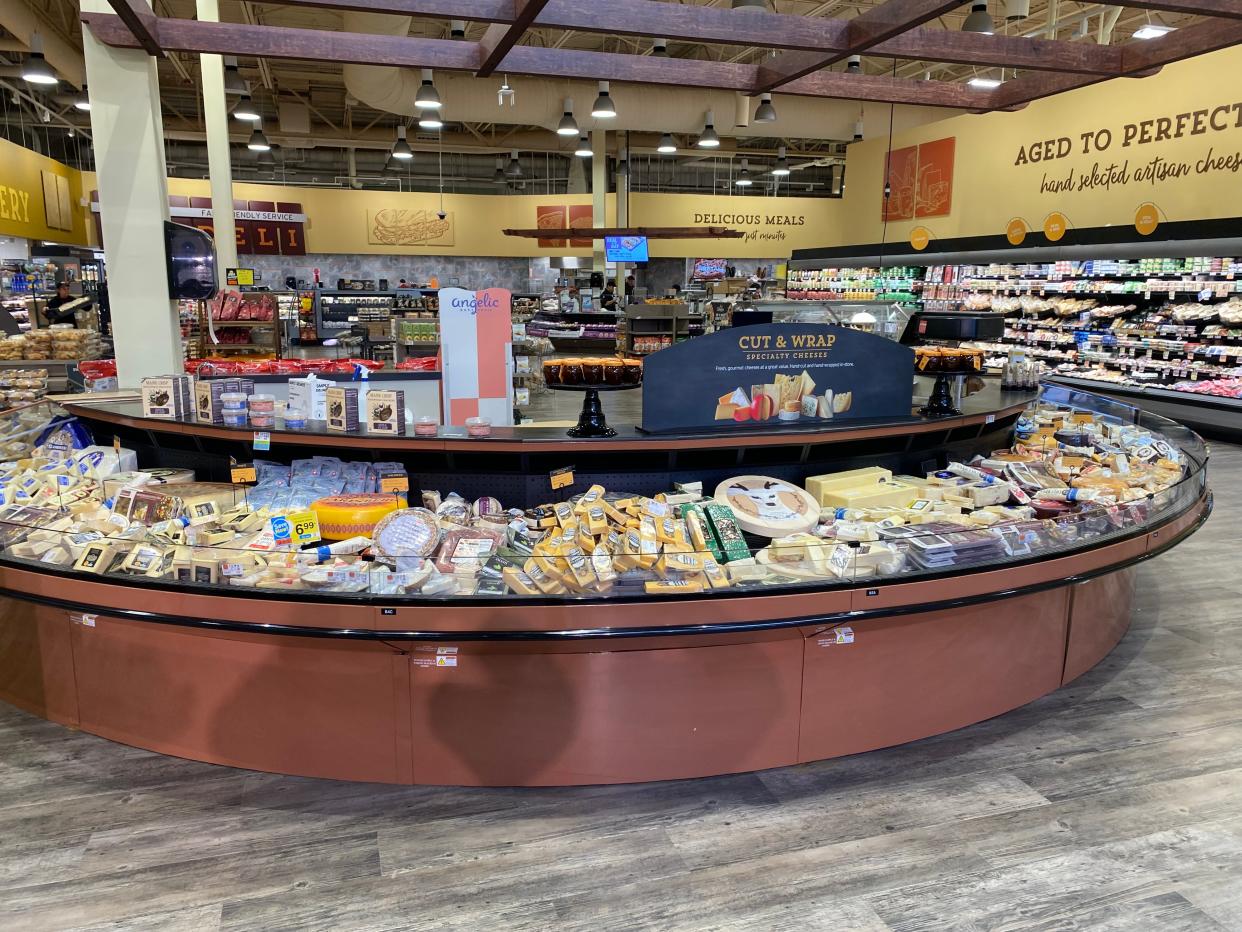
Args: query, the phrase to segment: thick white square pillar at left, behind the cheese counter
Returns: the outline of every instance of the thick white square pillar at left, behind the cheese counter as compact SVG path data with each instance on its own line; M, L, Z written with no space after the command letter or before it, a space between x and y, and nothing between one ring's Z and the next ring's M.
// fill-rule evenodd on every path
M112 12L108 0L82 10ZM117 375L137 388L148 375L180 373L181 326L165 276L168 175L155 60L112 48L82 29L99 219L108 256L108 298Z

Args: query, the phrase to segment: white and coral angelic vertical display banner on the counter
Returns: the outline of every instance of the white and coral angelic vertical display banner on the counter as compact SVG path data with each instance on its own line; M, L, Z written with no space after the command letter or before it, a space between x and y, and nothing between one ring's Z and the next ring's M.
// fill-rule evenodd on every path
M513 295L504 288L440 290L445 424L467 418L513 424Z

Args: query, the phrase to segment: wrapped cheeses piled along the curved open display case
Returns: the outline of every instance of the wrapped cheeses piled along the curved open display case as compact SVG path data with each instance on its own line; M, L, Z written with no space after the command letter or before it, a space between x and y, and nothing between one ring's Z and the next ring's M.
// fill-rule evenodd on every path
M17 450L14 447L15 451ZM831 585L1064 551L1141 526L1186 475L1166 437L1036 405L1010 446L903 475L739 475L533 508L411 488L400 464L258 461L246 485L144 470L53 421L0 462L0 552L171 585L414 598L646 598Z

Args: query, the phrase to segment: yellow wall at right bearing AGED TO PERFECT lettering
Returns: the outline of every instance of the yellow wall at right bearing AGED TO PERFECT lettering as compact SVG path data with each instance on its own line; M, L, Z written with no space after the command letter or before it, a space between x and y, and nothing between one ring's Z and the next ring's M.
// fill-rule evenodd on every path
M1154 40L1159 41L1159 40ZM1100 85L1036 101L1013 113L968 114L930 123L893 140L893 148L956 137L953 211L943 217L889 222L887 241L908 242L915 226L927 227L933 239L1002 235L1010 220L1021 217L1033 230L1043 227L1052 211L1068 217L1069 226L1133 225L1144 201L1160 209L1161 222L1242 216L1242 46L1169 65L1148 78L1117 78ZM1220 111L1217 108L1232 108ZM1194 113L1205 111L1200 129ZM1217 129L1211 128L1216 116ZM1169 135L1160 142L1156 122L1167 118ZM1144 121L1151 140L1139 144ZM1125 145L1126 127L1134 135ZM1226 128L1220 129L1221 126ZM1112 144L1094 148L1099 130L1112 133ZM1083 153L1083 133L1089 133L1090 150ZM1058 143L1064 138L1067 142ZM1031 147L1053 140L1051 152L1068 148L1064 158L1031 162ZM878 242L883 235L883 199L887 139L857 143L850 148L846 168L845 206L848 231L835 230L821 245ZM1025 150L1025 164L1016 164ZM1202 159L1232 157L1232 170L1201 171ZM1151 183L1139 170L1158 164L1184 163L1186 174ZM1093 168L1115 167L1128 178L1114 178L1109 186L1082 186ZM1045 179L1071 179L1072 190L1041 191Z

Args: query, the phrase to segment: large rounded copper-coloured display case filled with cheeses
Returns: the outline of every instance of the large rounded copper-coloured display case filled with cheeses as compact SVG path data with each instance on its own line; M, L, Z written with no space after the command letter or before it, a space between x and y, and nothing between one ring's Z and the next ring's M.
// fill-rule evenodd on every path
M740 436L2 425L0 697L391 783L704 775L997 715L1107 654L1129 567L1211 507L1192 432L1064 389Z

